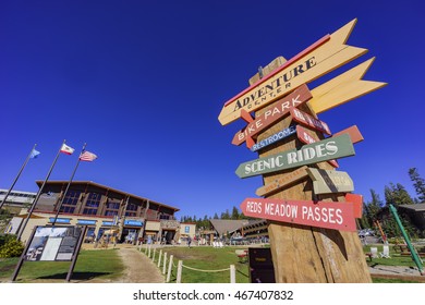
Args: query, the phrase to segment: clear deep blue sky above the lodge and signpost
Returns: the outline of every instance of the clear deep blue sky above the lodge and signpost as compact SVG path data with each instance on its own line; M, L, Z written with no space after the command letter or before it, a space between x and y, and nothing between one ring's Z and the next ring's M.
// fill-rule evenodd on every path
M356 124L365 141L340 160L355 193L403 184L424 161L424 29L421 1L1 1L0 187L36 192L63 139L98 155L89 180L212 216L255 196L260 178L234 171L257 158L221 126L223 103L278 56L295 56L353 19L348 44L376 57L364 80L388 86L319 115L332 132ZM78 154L61 155L68 180Z

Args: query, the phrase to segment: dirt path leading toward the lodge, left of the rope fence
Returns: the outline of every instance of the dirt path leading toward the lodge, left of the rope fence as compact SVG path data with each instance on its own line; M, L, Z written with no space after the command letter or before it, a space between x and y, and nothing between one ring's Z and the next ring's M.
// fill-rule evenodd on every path
M123 247L119 255L125 265L123 277L118 283L163 283L165 279L157 266L136 247Z

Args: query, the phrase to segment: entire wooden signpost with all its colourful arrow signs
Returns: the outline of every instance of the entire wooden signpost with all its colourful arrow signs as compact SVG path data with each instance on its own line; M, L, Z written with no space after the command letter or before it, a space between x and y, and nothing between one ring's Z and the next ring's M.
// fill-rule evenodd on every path
M386 83L362 80L374 61L372 58L315 88L307 87L367 52L345 45L355 23L353 20L324 36L275 70L269 66L277 61L270 63L264 69L269 74L252 77L256 81L226 101L218 117L222 125L238 119L246 121L232 144L246 142L252 151L258 152L259 158L242 162L236 174L263 175L264 185L256 191L263 198L246 198L240 207L245 216L269 221L277 282L371 281L366 264L359 263L364 260L355 233L359 203L348 202L353 198L348 194L354 191L354 184L347 172L336 170L337 159L354 156L353 144L363 137L356 126L332 135L329 122L317 114ZM298 240L313 248L298 253ZM282 241L287 243L282 245ZM341 251L342 247L347 248ZM294 264L283 260L296 261L296 270ZM299 265L303 260L305 265Z

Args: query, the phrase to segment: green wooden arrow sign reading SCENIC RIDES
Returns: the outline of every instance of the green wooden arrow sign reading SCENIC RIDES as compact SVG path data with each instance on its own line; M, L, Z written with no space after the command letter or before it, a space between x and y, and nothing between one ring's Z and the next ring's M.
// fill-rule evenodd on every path
M238 167L236 174L240 178L247 178L354 155L350 136L342 134L304 145L300 149L291 149L244 162Z

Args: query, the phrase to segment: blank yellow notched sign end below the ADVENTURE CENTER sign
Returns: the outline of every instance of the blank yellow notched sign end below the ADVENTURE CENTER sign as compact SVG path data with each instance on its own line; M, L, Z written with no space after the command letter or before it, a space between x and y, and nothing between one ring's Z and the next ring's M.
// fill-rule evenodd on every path
M375 58L354 66L312 90L309 106L315 113L321 113L360 96L379 89L387 83L363 81Z

